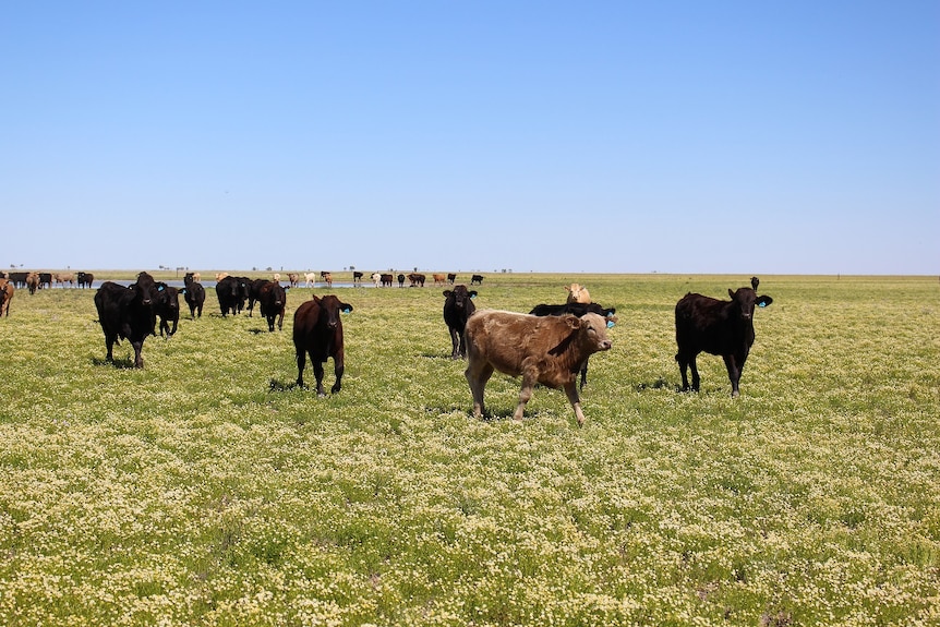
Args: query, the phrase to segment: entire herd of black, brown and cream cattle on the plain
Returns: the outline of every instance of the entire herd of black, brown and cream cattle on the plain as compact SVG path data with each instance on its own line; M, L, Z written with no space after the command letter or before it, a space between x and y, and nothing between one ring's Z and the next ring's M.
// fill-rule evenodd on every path
M11 273L12 274L12 273ZM24 273L25 274L25 273ZM37 274L37 273L29 273ZM328 274L328 273L326 273ZM357 273L359 274L359 273ZM92 275L77 273L80 280ZM222 317L241 313L249 315L260 305L267 321L268 330L275 324L282 328L287 290L279 276L268 279L249 279L217 275L216 296ZM308 277L304 277L308 278ZM376 273L373 280L378 285L391 285L391 275ZM403 285L405 276L399 276ZM407 277L412 286L422 286L423 275ZM23 277L25 280L26 277ZM190 308L190 316L201 317L206 291L197 274L188 273L182 289L155 281L147 273L140 273L136 281L128 287L105 281L95 293L98 322L105 334L108 361L113 360L113 345L121 339L131 342L134 349L134 366L143 367L144 340L156 335L170 337L177 331L179 322L179 294L183 294ZM325 276L321 276L325 280ZM361 276L359 277L361 279ZM386 281L387 279L387 281ZM454 282L455 275L439 275L439 282ZM48 285L55 280L49 277ZM64 279L69 280L69 279ZM315 277L314 277L315 280ZM434 275L435 284L438 275ZM473 276L472 285L480 285L482 277ZM742 371L755 340L755 308L773 302L768 296L757 296L759 279L751 277L751 287L728 289L731 300L718 300L698 293L687 293L675 306L676 343L675 359L682 375L682 389L699 390L700 378L696 358L701 352L722 357L732 385L732 396L738 396ZM38 288L37 288L38 289ZM483 390L495 371L521 377L522 387L514 418L521 420L526 403L535 385L562 388L575 411L578 424L583 424L579 389L587 383L588 359L595 352L610 350L612 342L607 328L617 321L616 310L592 302L587 288L578 284L565 286L568 292L565 303L535 305L528 314L499 310L477 310L473 299L478 296L465 285L444 290L444 323L451 340L451 359L467 360L465 376L473 398L473 413L485 412ZM10 299L13 296L14 277L0 278L0 316L9 316ZM323 386L324 363L334 361L336 381L330 389L341 388L345 370L342 313L352 311L352 305L336 296L314 296L294 312L293 345L297 355L297 385L303 387L303 371L306 357L313 364L316 391L326 394ZM159 318L159 327L157 319ZM691 385L687 371L691 370ZM577 377L580 374L580 387Z

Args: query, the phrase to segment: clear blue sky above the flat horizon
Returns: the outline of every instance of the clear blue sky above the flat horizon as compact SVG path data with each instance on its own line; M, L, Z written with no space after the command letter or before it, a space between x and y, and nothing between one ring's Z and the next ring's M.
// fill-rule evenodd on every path
M940 2L8 2L0 266L940 274Z

